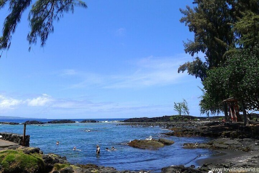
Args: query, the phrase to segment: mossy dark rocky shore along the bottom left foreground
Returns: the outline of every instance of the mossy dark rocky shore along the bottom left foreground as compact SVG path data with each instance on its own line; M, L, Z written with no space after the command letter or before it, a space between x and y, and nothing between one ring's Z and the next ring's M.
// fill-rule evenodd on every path
M16 159L10 161L10 157ZM0 151L2 167L5 173L147 173L147 171L118 171L113 167L97 166L95 164L70 164L65 156L44 154L39 148L11 146Z

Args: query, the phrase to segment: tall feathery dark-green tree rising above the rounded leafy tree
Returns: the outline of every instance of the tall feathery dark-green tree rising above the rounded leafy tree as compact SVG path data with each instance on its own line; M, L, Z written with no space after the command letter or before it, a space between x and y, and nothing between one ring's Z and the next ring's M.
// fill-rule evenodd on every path
M227 55L236 48L249 47L258 40L259 1L194 0L193 4L193 9L180 9L184 15L180 21L194 32L194 39L184 42L184 50L191 56L204 53L205 62L196 57L181 65L178 73L187 70L203 81L207 71L224 66Z

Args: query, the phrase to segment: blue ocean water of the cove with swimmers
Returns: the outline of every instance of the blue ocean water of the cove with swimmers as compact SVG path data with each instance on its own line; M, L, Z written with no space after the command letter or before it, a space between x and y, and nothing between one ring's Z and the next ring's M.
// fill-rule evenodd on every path
M98 120L98 119L97 119ZM122 119L101 119L102 121ZM3 121L3 120L0 120ZM6 120L10 121L10 120ZM26 120L12 120L25 122ZM42 120L41 121L49 121ZM75 121L80 122L81 119ZM100 121L100 119L99 119ZM160 171L170 165L188 164L195 158L210 155L208 149L183 149L188 142L206 142L204 137L168 137L161 133L167 130L159 127L121 126L118 122L44 124L27 125L30 146L39 147L44 153L56 153L66 156L72 164L88 164L115 167L118 170L153 170ZM23 125L0 125L0 131L23 133ZM151 151L132 148L126 143L134 139L166 138L175 144ZM59 141L60 144L56 145ZM100 155L96 155L96 145L100 145ZM72 150L73 147L81 150ZM105 151L114 146L116 151Z

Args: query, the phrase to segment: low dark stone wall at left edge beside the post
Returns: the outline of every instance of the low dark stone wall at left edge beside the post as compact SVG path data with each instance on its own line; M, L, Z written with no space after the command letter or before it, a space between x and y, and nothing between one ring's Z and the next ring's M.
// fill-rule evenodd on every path
M2 136L1 139L5 141L11 141L19 145L23 145L23 135L21 134L14 134L14 133L8 133L8 132L0 132L0 135ZM30 135L25 136L25 146L30 146Z

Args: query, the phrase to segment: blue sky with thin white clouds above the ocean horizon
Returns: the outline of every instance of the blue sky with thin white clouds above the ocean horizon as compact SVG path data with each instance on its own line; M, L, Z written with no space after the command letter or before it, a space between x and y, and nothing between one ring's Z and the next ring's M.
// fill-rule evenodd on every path
M0 59L0 115L131 118L177 114L185 98L200 116L199 79L177 73L192 61L182 41L182 1L87 0L54 24L44 48L28 52L26 11ZM0 22L8 14L0 11Z

